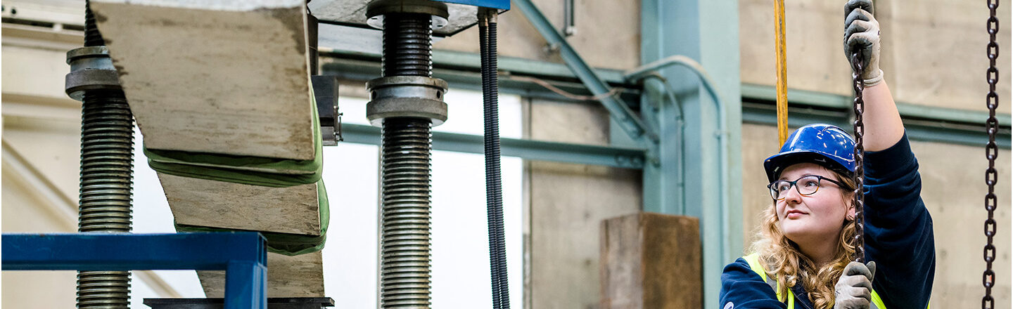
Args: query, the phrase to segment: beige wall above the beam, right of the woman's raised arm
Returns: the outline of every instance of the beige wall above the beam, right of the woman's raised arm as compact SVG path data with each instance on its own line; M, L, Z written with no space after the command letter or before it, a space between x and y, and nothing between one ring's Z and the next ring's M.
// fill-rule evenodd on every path
M888 16L880 25L884 39L884 61L888 79L899 101L938 107L987 110L985 93L986 1L975 0L883 0L877 1L880 12ZM1009 102L1010 17L1009 5L1000 5L999 17L999 96ZM886 77L889 78L889 75ZM999 110L1009 113L1010 104Z

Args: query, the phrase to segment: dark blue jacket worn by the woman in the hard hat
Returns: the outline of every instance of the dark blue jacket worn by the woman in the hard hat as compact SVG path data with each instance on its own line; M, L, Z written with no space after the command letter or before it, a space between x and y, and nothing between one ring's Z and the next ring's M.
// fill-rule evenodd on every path
M908 135L882 151L865 152L865 261L876 262L872 288L887 309L925 309L936 272L932 217L922 202L922 179ZM801 285L795 308L812 309ZM721 274L721 308L786 308L759 275L738 259Z

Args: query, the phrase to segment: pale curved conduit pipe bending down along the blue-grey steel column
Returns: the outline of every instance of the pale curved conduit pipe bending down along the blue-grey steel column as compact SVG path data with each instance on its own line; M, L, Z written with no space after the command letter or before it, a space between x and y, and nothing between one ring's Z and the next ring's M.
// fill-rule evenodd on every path
M718 141L719 146L717 151L719 153L718 158L720 159L720 163L718 163L718 171L719 171L718 184L721 186L722 190L726 189L728 188L727 171L726 171L727 170L726 165L728 163L728 153L727 153L728 120L727 120L727 115L725 114L724 111L724 101L721 100L721 97L717 94L717 90L715 89L714 86L714 80L711 79L710 75L707 74L707 70L705 70L703 66L700 65L700 63L696 62L692 58L682 55L674 55L666 57L653 63L646 64L639 68L627 71L623 76L627 81L637 82L651 75L656 75L657 74L656 72L658 70L661 70L670 66L686 67L689 68L690 71L693 71L693 73L696 73L696 75L700 78L700 81L702 82L704 89L706 89L707 93L710 94L710 97L712 99L711 101L714 102L714 108L717 109L717 126L718 126L718 131L715 132L714 137L717 138ZM671 86L668 86L668 82L666 82L666 86L670 88L668 91L672 92ZM720 207L721 239L727 239L729 233L728 231L729 218L728 218L728 212L726 211L728 209L727 194L720 194L719 199L721 204Z

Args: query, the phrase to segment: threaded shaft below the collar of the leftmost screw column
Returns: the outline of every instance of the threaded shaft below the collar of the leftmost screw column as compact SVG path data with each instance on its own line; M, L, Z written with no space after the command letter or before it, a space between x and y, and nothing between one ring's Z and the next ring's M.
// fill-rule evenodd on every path
M130 232L134 121L123 92L84 95L80 232ZM128 308L130 272L78 272L78 308Z

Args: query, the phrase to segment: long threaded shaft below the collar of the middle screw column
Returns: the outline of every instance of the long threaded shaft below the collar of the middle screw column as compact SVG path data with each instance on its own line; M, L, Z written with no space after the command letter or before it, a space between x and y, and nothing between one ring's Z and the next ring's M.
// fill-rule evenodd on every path
M395 118L383 127L381 303L430 307L430 121Z

